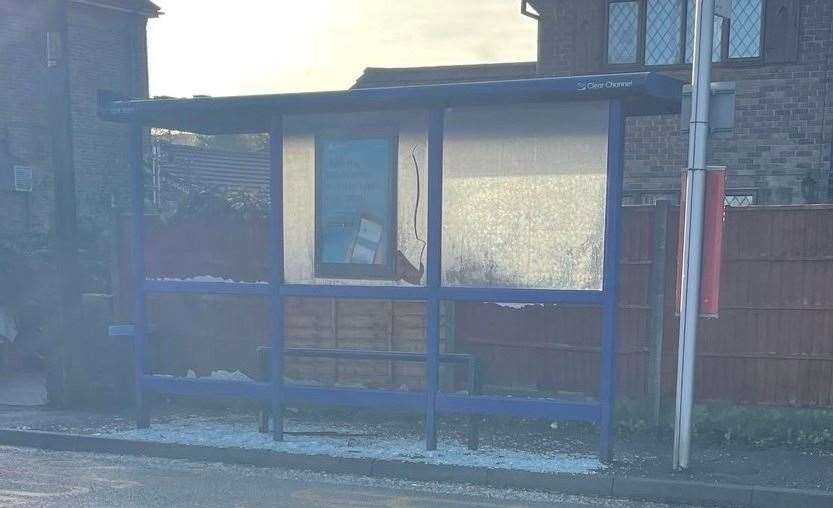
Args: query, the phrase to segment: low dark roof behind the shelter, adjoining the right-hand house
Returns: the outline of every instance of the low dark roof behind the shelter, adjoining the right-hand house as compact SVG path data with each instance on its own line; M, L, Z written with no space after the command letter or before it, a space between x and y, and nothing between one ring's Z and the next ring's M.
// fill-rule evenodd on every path
M473 83L537 77L535 62L431 67L368 67L352 88L379 88L439 83Z

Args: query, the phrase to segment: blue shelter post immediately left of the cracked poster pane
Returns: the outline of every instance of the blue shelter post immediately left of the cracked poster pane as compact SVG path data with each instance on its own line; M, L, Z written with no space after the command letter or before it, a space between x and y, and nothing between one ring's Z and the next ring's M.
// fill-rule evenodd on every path
M283 354L284 308L281 285L284 283L283 262L283 117L272 119L269 129L270 182L269 182L269 231L272 257L270 280L272 367L272 438L283 441Z

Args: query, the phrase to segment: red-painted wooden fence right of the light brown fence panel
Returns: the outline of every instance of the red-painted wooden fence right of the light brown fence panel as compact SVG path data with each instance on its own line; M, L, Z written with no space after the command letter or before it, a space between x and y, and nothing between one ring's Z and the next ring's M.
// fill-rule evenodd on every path
M662 391L673 394L677 209L667 221ZM653 207L625 209L618 389L648 393ZM595 394L599 314L586 308L457 307L457 348L477 353L486 382ZM720 317L703 319L697 397L742 403L833 405L833 207L727 210Z

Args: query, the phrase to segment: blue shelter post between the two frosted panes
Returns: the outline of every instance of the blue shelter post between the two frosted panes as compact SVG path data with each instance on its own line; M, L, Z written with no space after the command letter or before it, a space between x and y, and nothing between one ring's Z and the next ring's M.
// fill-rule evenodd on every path
M437 449L444 130L445 110L432 109L428 113L428 299L425 302L425 448L428 450Z

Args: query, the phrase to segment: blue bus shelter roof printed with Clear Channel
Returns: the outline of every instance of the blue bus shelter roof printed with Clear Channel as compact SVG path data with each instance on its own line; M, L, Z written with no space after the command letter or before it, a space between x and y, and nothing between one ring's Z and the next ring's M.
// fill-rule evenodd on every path
M205 134L268 132L281 114L351 113L565 100L622 99L630 115L680 110L682 82L651 72L443 83L335 92L191 99L107 100L99 115Z

